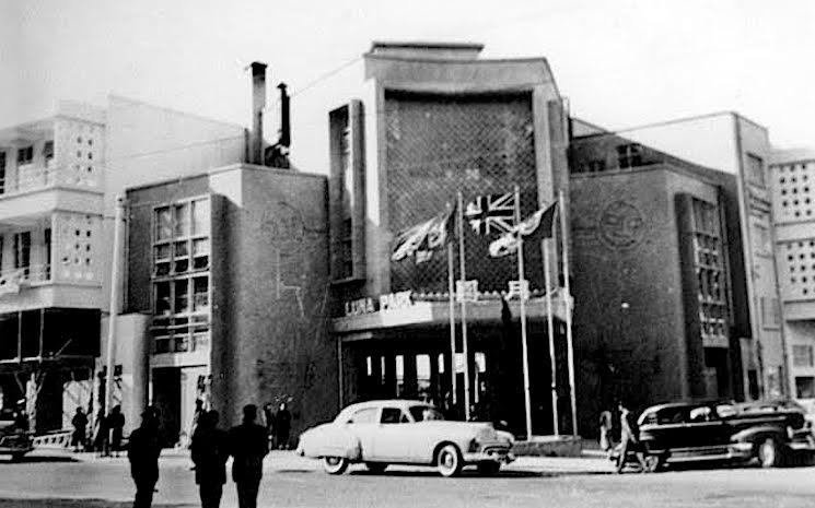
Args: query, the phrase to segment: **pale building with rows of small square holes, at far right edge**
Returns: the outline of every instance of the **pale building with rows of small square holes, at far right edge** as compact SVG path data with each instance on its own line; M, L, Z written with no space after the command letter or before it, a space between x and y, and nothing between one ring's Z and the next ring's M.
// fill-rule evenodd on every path
M777 150L769 163L791 394L815 399L815 151Z

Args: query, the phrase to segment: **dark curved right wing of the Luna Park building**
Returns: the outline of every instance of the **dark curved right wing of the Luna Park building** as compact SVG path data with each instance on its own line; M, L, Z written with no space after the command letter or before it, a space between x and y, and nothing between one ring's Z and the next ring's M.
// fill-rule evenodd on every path
M743 398L735 175L585 128L569 151L581 428L616 400Z

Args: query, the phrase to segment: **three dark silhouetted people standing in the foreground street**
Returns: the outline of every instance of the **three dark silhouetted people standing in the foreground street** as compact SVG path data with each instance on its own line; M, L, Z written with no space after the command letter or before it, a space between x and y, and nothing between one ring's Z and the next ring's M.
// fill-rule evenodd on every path
M257 406L243 407L243 422L229 430L218 427L217 411L201 411L193 433L191 459L195 481L199 487L202 508L221 504L226 483L226 460L232 457L232 480L241 508L255 508L263 476L264 458L269 452L267 428L257 424ZM136 484L133 508L152 505L159 481L159 412L150 406L142 413L142 423L130 434L128 459L130 475Z

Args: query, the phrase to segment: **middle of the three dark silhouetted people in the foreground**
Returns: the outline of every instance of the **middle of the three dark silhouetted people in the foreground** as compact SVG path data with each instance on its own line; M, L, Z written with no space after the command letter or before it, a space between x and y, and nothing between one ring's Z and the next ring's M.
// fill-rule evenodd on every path
M221 506L223 484L226 483L229 441L226 433L218 428L218 411L201 413L190 445L201 508Z

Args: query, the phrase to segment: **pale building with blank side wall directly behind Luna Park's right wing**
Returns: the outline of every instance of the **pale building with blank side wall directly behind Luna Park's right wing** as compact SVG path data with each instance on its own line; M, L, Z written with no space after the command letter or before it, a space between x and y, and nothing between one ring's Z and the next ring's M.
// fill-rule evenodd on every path
M736 177L725 192L733 196L737 225L732 241L744 246L731 268L733 308L743 314L741 341L743 395L748 399L790 395L788 354L779 310L777 257L772 245L771 193L767 129L736 113L717 113L618 131L642 145ZM737 236L735 236L737 234ZM743 276L741 275L743 274Z

